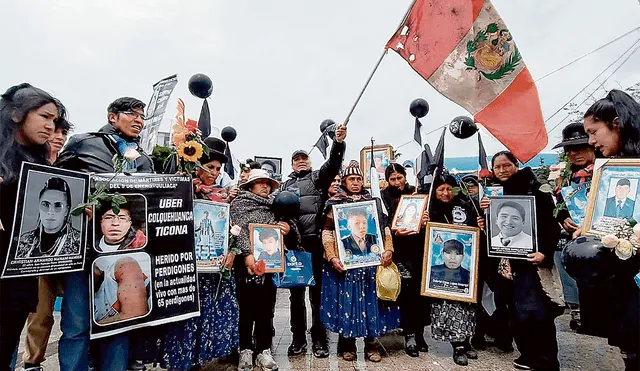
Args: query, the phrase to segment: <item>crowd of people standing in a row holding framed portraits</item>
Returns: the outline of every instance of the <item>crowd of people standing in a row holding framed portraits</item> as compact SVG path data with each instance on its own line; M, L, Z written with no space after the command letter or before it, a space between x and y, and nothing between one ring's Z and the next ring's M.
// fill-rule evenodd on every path
M106 125L97 132L73 135L67 141L73 127L59 100L26 83L13 86L2 94L1 262L6 260L12 234L23 163L52 165L84 173L112 173L115 170L113 157L135 149L141 156L129 164L128 171L153 173L158 170L154 169L152 158L138 145L144 126L144 109L145 104L138 99L116 99L107 108ZM485 285L495 294L495 310L491 315L479 303L421 295L424 227L427 223L464 225L485 233L485 210L490 207L491 199L479 198L479 181L475 176L460 180L446 171L437 172L428 209L422 212L414 206L411 215L406 217L407 223L419 221L422 226L419 232L405 228L402 223L394 228L390 218L380 215L376 220L382 241L370 241L366 229L362 235L356 232L359 215L354 212L354 226L351 222L348 226L352 231L349 248L357 254L376 244L380 249L381 266L395 263L402 284L396 301L378 298L376 267L345 269L338 253L340 237L335 230L333 207L375 200L379 206L384 205L388 215L394 215L403 195L417 193L407 182L406 169L392 162L381 169L385 177L381 197L372 197L364 187L360 164L344 159L346 136L346 126L339 125L329 158L317 170L312 168L309 154L298 150L291 156L293 172L287 180L279 182L274 179L271 169L247 161L242 166L238 184L225 187L219 183L223 166L228 161L226 143L217 138L206 138L204 142L209 151L200 158L202 167L191 174L193 195L197 199L230 203L231 223L240 227L236 241L240 252L228 253L223 266L231 272L233 279L222 279L217 273L198 274L198 317L92 341L89 337L92 310L89 272L2 279L0 369L12 370L15 366L20 334L26 324L24 370L41 370L57 296L63 297L62 336L58 342L62 370L142 370L144 363L158 363L176 371L196 370L214 359L237 362L239 370L251 370L254 365L264 370L278 369L271 353L277 289L269 273L258 272L256 261L260 259L254 256L250 247L249 224L260 223L277 226L284 236L286 250L304 250L312 256L316 284L308 290L289 290L293 337L288 355L291 357L307 351L305 295L308 291L311 350L318 358L330 355L330 331L339 335L337 352L344 360L356 359L356 339L364 338L366 360L380 362L383 352L378 338L398 329L404 335L406 353L418 357L421 352L429 351L424 336L425 328L430 326L434 340L451 343L453 360L458 365L468 365L469 360L481 357L479 351L493 339L494 345L504 352L514 351L515 341L520 356L514 360L514 367L518 369L559 370L554 320L567 308L551 300L538 272L541 268L551 268L554 263L561 268L559 257L563 247L582 232L568 212L554 215L555 204L563 202L559 189L590 180L596 157L640 156L640 103L624 92L612 90L586 111L584 122L570 124L564 129L563 140L557 147L567 156L570 171L554 180L557 185L554 192L545 191L533 171L521 167L511 152L501 151L493 156L493 184L502 186L504 195L533 196L537 228L543 232L535 235L538 250L526 260L490 258L486 252L486 235L480 239L477 287L479 297L482 297ZM64 190L64 185L53 184L55 181L49 183L41 197L49 189ZM466 192L457 192L460 188ZM295 218L277 215L274 194L279 191L298 195L300 211ZM517 207L512 208L515 213L519 212ZM127 223L130 224L131 219L126 207L120 211L122 215L112 211L109 212L113 215L93 215L87 211L87 217L100 218L106 230L114 230L105 233L104 241L100 242L103 249L126 248L123 246L144 238L129 228ZM120 228L122 225L124 228ZM49 232L56 233L60 228L54 229ZM263 237L265 240L275 238L267 233ZM29 253L27 246L23 250ZM462 254L462 246L456 241L444 243L444 266L455 270L458 276L468 276L469 272L460 267ZM87 259L91 259L88 255ZM625 268L623 273L617 274L606 288L581 286L561 269L564 296L574 327L608 337L611 345L620 348L627 370L638 369L640 290L633 280L638 272L637 263L636 255L626 265L631 269ZM447 271L446 274L452 273ZM605 301L612 303L610 308L604 309L609 313L607 321L601 317L602 305L597 305L604 300L603 295L606 295ZM594 310L594 307L599 308ZM603 326L603 322L606 325Z

